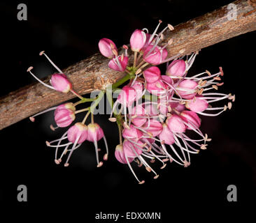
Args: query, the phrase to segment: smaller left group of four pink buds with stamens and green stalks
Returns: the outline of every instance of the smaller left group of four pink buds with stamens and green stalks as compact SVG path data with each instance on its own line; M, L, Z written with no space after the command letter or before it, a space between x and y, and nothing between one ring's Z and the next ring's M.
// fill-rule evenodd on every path
M53 89L55 91L61 91L63 93L68 93L70 91L74 95L76 95L78 98L80 98L80 101L78 101L76 103L67 102L67 103L59 105L57 107L52 107L50 109L46 109L43 112L40 112L38 114L35 114L34 116L29 117L30 120L32 122L34 122L36 116L43 114L45 112L54 110L55 111L54 118L55 118L55 123L57 126L50 125L50 128L52 130L56 130L57 128L66 128L69 125L71 125L71 123L73 123L73 121L75 121L75 119L76 119L76 114L78 114L80 112L87 112L87 114L85 115L85 118L83 119L82 122L77 122L77 123L71 125L71 127L69 127L69 129L62 135L62 137L60 137L59 139L50 141L50 142L46 141L46 145L49 147L55 148L55 163L56 164L59 164L60 162L62 162L62 157L64 155L66 155L66 153L69 152L66 162L64 163L64 167L68 167L69 160L70 160L70 157L71 157L73 151L75 151L77 148L79 148L81 146L81 144L83 144L84 141L86 141L86 140L92 141L94 143L96 157L97 157L97 167L101 167L103 162L99 161L100 149L98 148L98 144L97 144L97 142L100 139L104 139L104 142L106 145L106 153L104 155L104 160L108 160L108 144L106 141L106 137L104 136L104 132L103 132L102 128L97 123L94 123L94 118L93 118L93 113L92 113L93 111L90 109L90 107L76 111L77 105L79 105L82 102L87 102L87 101L92 101L92 100L83 98L81 95L76 93L76 91L73 91L72 84L69 81L69 79L62 72L62 70L60 70L55 65L55 63L53 63L50 60L50 58L45 54L45 52L42 51L42 52L40 52L39 55L40 56L45 55L45 57L48 59L48 61L50 61L50 63L52 63L52 66L54 66L59 72L59 73L55 73L51 76L51 78L50 78L51 85L45 84L45 82L42 82L40 79L38 79L38 77L36 77L31 72L33 67L29 67L27 72L30 72L30 74L33 77L35 77L35 79L37 79L38 82L40 82L44 86L47 86L48 88ZM85 121L87 120L87 117L89 116L90 113L92 114L91 123L89 125L85 125ZM66 141L66 142L64 142L64 141ZM59 155L59 157L58 157L59 148L64 148L64 149L62 151L62 154Z

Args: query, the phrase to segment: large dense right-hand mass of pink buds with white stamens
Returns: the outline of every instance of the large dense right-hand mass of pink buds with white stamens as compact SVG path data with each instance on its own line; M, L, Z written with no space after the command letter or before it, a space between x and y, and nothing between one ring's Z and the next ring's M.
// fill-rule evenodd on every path
M129 75L130 82L122 87L113 103L109 120L117 122L120 129L120 144L115 148L115 157L129 166L139 184L145 180L138 179L131 162L135 161L139 167L152 171L154 178L159 175L149 163L155 160L162 162L161 168L166 167L167 162L188 167L190 155L206 149L208 141L211 141L200 130L199 115L218 116L231 109L231 101L235 99L230 93L211 92L217 91L223 84L220 82L222 68L213 75L206 70L188 77L188 70L198 52L187 56L187 59L181 56L183 50L168 57L166 46L171 45L172 40L164 46L160 43L164 40L164 32L172 31L173 26L169 24L159 33L157 29L152 34L147 29L136 29L132 33L132 56L128 55L126 45L123 46L125 54L119 55L112 40L104 38L99 41L101 54L111 59L109 68L125 71ZM162 75L157 65L166 62L166 72ZM148 94L150 100L146 100ZM152 100L154 97L155 100ZM225 99L231 101L221 107L214 106L214 102ZM119 105L121 108L116 111ZM198 137L191 138L190 132Z

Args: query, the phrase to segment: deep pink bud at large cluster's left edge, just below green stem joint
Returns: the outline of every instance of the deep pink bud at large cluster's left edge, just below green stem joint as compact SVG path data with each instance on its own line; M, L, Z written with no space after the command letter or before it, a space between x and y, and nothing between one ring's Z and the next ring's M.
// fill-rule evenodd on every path
M118 95L118 102L126 107L130 107L136 100L136 91L130 86L124 86Z

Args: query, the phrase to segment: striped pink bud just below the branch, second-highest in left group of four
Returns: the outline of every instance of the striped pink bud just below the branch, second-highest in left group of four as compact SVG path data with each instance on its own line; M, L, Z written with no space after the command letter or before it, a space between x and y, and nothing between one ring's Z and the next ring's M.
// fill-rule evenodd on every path
M57 126L61 128L69 126L76 118L75 110L76 108L73 107L73 103L59 105L57 109L55 109L55 123Z

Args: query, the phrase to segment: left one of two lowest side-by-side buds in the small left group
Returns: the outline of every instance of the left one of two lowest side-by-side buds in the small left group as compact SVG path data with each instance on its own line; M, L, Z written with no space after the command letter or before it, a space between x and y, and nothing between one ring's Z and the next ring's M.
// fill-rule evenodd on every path
M83 123L76 123L75 125L71 126L71 128L69 128L67 136L69 141L73 142L73 144L76 140L78 140L78 144L81 144L87 139L87 126Z

